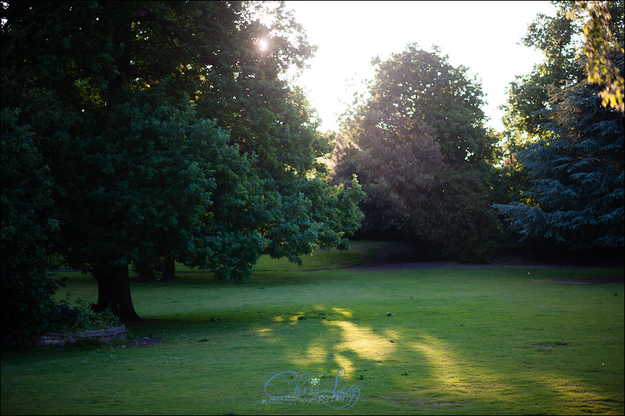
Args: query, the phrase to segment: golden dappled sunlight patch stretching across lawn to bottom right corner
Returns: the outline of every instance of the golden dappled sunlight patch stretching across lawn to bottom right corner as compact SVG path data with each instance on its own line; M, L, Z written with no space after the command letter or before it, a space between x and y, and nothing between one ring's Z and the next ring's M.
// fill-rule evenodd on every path
M287 349L293 367L302 372L344 370L339 387L362 385L361 399L370 406L391 404L410 408L410 412L469 406L469 413L514 409L575 413L581 405L593 411L619 411L617 403L610 406L612 398L601 389L566 372L532 369L511 374L506 371L510 363L476 363L462 347L428 331L415 333L399 324L365 324L347 309L332 310L333 319L323 321L323 337L321 333L313 337L305 348L281 347ZM331 387L338 377L331 378ZM370 406L366 408L371 410Z

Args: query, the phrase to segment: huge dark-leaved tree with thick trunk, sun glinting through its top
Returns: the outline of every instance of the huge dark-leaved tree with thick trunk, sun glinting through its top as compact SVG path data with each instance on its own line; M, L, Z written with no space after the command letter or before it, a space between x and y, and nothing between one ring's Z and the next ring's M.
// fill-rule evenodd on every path
M2 17L2 107L33 129L57 250L97 278L100 308L138 318L129 263L241 280L261 254L344 248L359 190L315 161L328 143L284 80L313 48L282 3L9 2Z

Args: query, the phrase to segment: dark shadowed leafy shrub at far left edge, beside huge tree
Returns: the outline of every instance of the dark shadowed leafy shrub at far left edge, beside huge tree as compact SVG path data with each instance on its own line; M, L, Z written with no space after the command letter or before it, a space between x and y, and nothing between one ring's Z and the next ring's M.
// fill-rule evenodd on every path
M30 128L17 124L17 111L2 110L2 196L0 267L2 335L28 335L48 327L62 282L48 277L49 216L53 184Z

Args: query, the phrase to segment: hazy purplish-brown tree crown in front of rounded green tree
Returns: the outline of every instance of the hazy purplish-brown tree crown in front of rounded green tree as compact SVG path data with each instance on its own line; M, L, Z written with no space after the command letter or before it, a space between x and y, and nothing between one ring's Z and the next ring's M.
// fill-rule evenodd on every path
M363 184L361 234L397 237L415 220L410 207L423 207L433 189L442 186L440 144L422 121L387 109L363 114L357 139L358 145L351 142L338 150L335 175L356 175Z

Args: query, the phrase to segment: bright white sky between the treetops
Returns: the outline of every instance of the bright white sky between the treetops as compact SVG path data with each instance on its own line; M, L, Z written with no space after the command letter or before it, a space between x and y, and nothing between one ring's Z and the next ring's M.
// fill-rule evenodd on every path
M318 46L298 84L308 92L322 119L321 130L336 123L362 80L374 76L371 60L400 53L417 42L440 46L454 66L469 67L482 81L490 117L501 131L508 84L531 71L542 55L519 45L540 12L555 15L549 1L286 1Z

